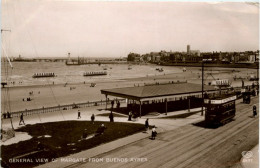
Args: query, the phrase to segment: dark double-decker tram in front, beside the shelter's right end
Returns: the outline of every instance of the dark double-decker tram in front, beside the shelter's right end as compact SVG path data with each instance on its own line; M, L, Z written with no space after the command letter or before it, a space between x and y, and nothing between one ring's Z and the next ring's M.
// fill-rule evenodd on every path
M205 123L207 126L221 126L231 121L236 115L236 95L218 95L204 99L206 107Z

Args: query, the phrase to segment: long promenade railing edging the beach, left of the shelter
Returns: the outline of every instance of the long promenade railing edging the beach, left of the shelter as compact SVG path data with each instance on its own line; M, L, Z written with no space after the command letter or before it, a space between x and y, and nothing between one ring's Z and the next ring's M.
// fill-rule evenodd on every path
M117 99L120 103L124 102L125 99ZM111 105L112 100L108 100L107 104ZM67 105L58 105L54 107L42 107L38 109L25 109L23 111L16 111L12 112L10 115L11 117L20 117L20 115L23 113L24 116L30 116L34 114L43 114L43 113L50 113L50 112L56 112L60 110L71 110L75 108L85 108L85 107L91 107L91 106L101 106L105 105L106 101L93 101L93 102L86 102L86 103L73 103L73 104L67 104ZM2 118L8 118L7 114L2 114Z

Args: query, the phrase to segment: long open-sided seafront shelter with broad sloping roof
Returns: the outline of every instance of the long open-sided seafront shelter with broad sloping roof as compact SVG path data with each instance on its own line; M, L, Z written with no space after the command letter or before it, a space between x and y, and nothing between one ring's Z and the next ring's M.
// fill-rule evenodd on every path
M214 86L204 85L204 93L216 94ZM141 117L149 112L165 113L202 106L202 86L193 83L152 84L135 87L103 89L106 96L125 98L127 110ZM107 108L107 103L106 103Z

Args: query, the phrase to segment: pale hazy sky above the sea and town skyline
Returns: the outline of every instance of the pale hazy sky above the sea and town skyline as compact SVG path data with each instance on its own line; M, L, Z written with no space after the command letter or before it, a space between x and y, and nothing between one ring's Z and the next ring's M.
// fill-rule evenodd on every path
M244 2L2 0L1 27L14 57L259 49L259 7Z

